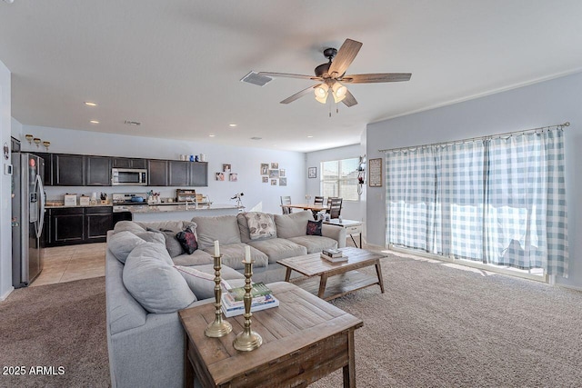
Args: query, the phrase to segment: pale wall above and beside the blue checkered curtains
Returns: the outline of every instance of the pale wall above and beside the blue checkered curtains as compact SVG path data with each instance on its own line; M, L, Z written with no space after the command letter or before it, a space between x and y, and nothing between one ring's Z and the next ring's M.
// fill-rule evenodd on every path
M384 157L380 149L431 144L487 134L502 134L570 122L566 138L566 187L569 237L569 276L558 284L582 288L582 74L568 75L497 95L452 104L367 125L368 160ZM384 245L386 184L367 188L368 243Z

